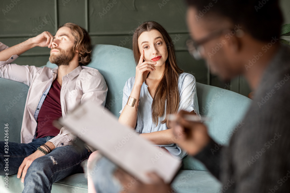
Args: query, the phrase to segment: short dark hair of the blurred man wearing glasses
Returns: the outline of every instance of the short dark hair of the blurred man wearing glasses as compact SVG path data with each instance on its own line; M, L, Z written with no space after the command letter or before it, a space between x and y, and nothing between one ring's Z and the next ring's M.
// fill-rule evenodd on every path
M226 17L234 25L240 24L257 40L270 41L280 36L283 16L278 0L186 0L186 4L198 12L205 9L206 17Z

